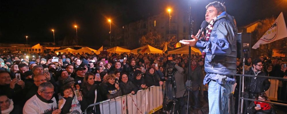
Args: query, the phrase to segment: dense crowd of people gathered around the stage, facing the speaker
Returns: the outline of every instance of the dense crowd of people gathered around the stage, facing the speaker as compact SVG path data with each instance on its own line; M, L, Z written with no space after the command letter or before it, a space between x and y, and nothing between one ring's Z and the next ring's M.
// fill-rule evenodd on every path
M188 73L188 56L178 54L116 54L108 53L104 49L99 55L92 52L90 54L18 53L0 56L2 114L82 113L93 103L126 94L137 94L138 90L150 86L164 85L168 63L171 61L176 63L175 69L177 69L174 74L178 82L176 98L182 101ZM192 105L198 108L203 101L206 101L202 83L206 73L201 55L196 53L191 59L194 96ZM242 62L239 59L237 62L238 74L242 74ZM260 74L266 72L266 76L287 78L286 63L280 58L272 61L267 57L254 60L250 58L245 65L246 71L251 75L261 76ZM179 79L182 83L179 83ZM246 97L267 100L266 95L259 93L269 89L270 82L265 78L248 81L250 83L246 86L248 93ZM252 84L257 84L258 90L252 90L254 89ZM286 85L286 82L283 81L284 84ZM258 104L248 102L246 107L254 107L256 103ZM248 112L258 110L253 108ZM90 107L87 112L100 113L100 107L99 105Z

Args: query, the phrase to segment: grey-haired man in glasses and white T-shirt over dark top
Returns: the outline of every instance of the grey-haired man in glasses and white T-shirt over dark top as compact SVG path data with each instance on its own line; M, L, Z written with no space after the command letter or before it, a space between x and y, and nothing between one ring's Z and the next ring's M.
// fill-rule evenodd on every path
M56 98L53 97L54 86L51 82L44 82L39 85L37 94L32 96L24 105L23 114L60 114Z

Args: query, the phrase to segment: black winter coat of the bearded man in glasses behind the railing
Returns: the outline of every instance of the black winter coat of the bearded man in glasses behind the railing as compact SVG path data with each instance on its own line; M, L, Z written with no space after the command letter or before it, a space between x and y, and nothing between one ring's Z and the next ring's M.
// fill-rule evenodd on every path
M256 72L257 74L258 72ZM253 71L253 67L246 71L245 74L247 75L255 75ZM264 71L261 71L257 74L257 76L267 76ZM270 87L270 82L268 78L261 78L261 77L246 77L246 92L252 93L261 93L268 90Z

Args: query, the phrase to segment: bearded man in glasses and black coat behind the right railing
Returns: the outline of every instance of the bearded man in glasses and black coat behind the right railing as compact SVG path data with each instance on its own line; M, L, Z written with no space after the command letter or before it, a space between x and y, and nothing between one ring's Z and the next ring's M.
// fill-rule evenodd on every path
M267 76L267 74L263 70L263 64L260 59L254 59L252 61L252 67L250 69L247 69L245 74L254 76ZM259 93L265 92L270 87L270 82L268 81L268 78L245 77L245 79L246 79L246 90L244 98L255 99ZM244 109L247 111L247 107L249 106L251 101L245 100L244 102L245 102Z

